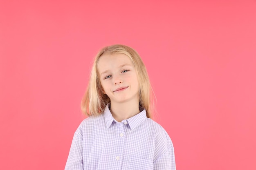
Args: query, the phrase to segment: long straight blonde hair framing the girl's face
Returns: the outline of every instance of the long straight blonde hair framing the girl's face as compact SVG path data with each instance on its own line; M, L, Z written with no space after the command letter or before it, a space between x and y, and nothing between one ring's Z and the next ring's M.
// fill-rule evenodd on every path
M153 103L151 104L151 99L153 100L153 90L150 85L146 67L137 51L121 44L106 46L96 55L92 65L87 91L81 101L83 113L88 116L100 115L105 110L106 105L110 103L110 98L103 93L97 68L99 58L103 54L111 55L115 53L125 54L132 60L139 79L139 107L144 108L147 117L151 118L151 112L153 110Z

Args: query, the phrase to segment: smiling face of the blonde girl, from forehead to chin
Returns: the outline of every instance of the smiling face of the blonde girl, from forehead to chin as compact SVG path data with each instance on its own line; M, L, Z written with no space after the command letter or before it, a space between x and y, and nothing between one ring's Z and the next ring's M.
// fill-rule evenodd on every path
M102 55L98 61L98 72L103 93L108 95L111 103L139 103L139 82L127 55Z

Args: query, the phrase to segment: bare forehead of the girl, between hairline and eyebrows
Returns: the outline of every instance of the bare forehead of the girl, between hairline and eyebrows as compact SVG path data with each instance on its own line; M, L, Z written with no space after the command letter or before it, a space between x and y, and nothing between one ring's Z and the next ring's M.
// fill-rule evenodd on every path
M132 60L125 54L115 53L115 54L104 54L98 60L99 73L103 71L110 70L113 68L118 68L123 65L133 66Z

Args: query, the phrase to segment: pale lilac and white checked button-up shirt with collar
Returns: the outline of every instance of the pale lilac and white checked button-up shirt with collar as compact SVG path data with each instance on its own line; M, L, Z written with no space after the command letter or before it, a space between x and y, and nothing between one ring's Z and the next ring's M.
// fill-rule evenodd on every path
M65 170L176 169L170 137L146 110L118 122L108 106L77 128Z

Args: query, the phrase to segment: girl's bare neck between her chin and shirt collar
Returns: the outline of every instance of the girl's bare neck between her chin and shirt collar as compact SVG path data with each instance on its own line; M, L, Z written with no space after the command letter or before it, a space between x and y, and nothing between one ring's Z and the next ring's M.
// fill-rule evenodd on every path
M121 122L124 119L129 119L139 113L139 101L124 103L111 102L110 112L116 121Z

